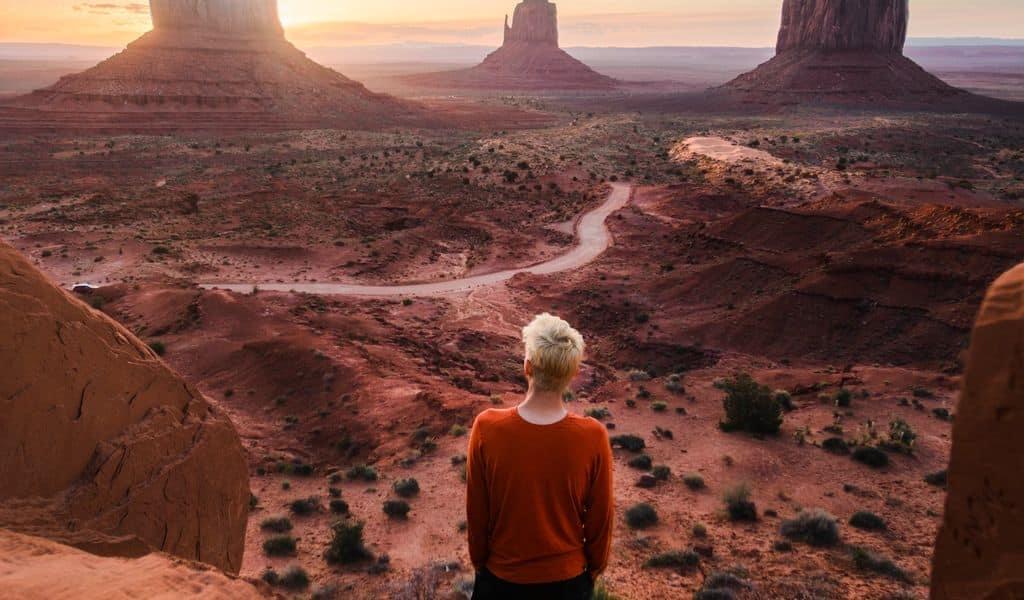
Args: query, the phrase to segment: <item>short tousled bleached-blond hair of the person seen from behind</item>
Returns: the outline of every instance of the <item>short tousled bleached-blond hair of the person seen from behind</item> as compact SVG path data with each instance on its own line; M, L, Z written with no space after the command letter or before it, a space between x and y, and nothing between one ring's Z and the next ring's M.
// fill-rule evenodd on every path
M558 391L572 381L583 362L583 336L557 316L538 315L522 328L526 358L534 367L534 386Z

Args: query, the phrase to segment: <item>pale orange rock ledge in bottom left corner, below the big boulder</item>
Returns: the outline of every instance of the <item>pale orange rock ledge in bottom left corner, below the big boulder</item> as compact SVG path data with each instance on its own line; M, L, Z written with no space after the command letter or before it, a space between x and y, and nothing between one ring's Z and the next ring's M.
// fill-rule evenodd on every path
M210 567L161 554L138 560L103 558L3 529L0 529L0 590L4 598L18 600L272 597Z

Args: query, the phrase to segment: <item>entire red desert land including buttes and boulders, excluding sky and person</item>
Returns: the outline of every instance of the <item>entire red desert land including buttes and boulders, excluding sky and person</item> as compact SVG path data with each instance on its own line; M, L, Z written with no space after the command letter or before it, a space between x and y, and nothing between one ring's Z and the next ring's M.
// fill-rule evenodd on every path
M469 598L467 434L549 311L614 448L595 598L1024 597L1024 62L964 90L905 0L785 0L691 89L523 0L371 91L275 0L151 6L0 96L0 589Z

